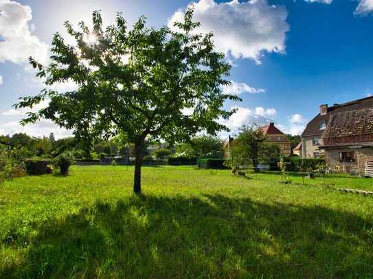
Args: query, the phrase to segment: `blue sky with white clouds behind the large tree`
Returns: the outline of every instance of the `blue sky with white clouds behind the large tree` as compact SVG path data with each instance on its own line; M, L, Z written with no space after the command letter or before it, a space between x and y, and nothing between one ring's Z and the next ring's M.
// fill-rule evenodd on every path
M151 27L172 27L192 4L198 31L212 31L232 65L223 90L242 98L225 104L237 108L223 121L232 132L275 122L282 132L301 134L320 104L373 95L373 0L0 0L0 134L71 134L49 121L23 127L27 111L12 108L45 88L27 58L47 64L53 34L67 36L66 20L89 23L91 12L101 10L106 25L123 12L129 26L145 15Z

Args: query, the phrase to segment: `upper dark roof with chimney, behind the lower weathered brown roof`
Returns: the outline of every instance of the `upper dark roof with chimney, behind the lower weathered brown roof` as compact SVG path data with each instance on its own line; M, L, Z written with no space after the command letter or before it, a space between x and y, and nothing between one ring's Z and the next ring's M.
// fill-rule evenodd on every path
M335 104L328 108L327 114L321 115L317 114L314 119L312 119L304 129L302 133L302 137L304 136L321 136L325 130L319 129L319 123L326 122L328 128L328 122L330 121L330 117L332 114L336 114L338 112L348 112L351 110L361 110L363 108L373 108L373 97L367 97L363 99L357 99L354 101L349 101L344 104Z

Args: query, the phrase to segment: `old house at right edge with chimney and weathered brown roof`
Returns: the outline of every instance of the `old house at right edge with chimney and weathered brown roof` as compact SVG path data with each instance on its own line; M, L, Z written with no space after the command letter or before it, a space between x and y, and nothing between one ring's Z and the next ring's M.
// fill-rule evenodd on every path
M302 134L302 155L323 155L330 167L362 173L373 161L373 97L321 105Z

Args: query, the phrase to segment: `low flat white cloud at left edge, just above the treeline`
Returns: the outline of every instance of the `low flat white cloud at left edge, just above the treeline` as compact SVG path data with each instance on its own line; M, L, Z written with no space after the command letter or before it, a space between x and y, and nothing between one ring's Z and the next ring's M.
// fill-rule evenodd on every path
M48 136L52 132L56 138L72 135L72 131L59 128L49 120L41 120L35 124L27 124L25 126L22 126L19 121L10 121L0 123L0 127L0 134L26 133L29 136Z

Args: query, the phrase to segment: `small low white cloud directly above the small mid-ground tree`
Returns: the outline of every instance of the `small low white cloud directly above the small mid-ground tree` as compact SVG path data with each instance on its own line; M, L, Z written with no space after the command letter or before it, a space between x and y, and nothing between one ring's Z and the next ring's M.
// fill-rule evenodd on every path
M242 125L251 125L253 123L264 125L272 121L272 117L276 114L274 108L264 109L262 107L257 107L251 110L250 108L232 106L231 109L233 108L237 109L236 113L229 117L228 120L221 119L220 121L220 123L226 125L233 132L236 132Z

